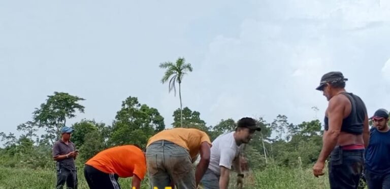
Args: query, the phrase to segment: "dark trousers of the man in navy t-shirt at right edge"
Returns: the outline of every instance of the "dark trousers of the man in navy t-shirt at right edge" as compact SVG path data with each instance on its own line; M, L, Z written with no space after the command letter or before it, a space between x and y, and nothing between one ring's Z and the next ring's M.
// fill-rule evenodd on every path
M366 169L365 176L369 189L390 188L390 174L375 174Z

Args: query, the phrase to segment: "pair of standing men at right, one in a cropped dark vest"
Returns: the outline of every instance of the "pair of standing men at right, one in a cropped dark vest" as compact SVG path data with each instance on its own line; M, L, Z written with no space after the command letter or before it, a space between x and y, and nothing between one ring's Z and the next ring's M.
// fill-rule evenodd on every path
M332 71L316 88L329 101L324 118L322 149L313 174L323 175L329 161L331 188L358 188L364 171L369 189L390 188L390 132L388 111L381 108L368 117L363 100L345 91L344 75ZM369 120L373 127L369 128Z

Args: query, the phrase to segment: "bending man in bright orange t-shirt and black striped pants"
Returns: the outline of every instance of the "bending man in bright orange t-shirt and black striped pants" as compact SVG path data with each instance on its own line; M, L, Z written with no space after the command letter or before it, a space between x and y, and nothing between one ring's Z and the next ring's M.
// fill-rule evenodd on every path
M133 177L132 188L140 188L146 174L145 154L134 145L103 150L85 163L84 176L91 189L119 189L118 177Z

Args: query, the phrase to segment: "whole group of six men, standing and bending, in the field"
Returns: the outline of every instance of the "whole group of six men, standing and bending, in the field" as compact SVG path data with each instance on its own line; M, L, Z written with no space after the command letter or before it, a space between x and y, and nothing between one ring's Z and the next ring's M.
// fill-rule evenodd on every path
M329 101L324 118L323 145L313 166L314 176L323 175L329 161L331 188L357 188L364 170L368 187L390 188L390 132L388 112L378 109L368 117L363 100L345 91L341 72L323 75L317 90ZM373 127L369 128L369 120ZM122 145L103 150L85 163L84 176L90 188L120 188L118 177L133 177L132 187L140 188L146 172L152 188L175 186L205 189L228 188L230 173L237 172L237 184L244 174L240 166L240 145L248 143L261 129L252 118L242 118L235 131L218 136L213 142L197 129L175 128L152 136L144 153L138 146ZM72 129L64 127L53 146L57 161L57 188L67 183L77 188L74 160L78 155L70 141ZM200 156L196 168L193 163Z

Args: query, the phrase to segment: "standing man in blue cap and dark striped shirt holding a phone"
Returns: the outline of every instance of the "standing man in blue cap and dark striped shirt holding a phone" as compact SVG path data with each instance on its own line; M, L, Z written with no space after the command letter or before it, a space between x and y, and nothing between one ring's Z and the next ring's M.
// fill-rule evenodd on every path
M62 189L67 183L67 188L77 188L77 173L75 159L78 155L76 146L70 141L73 129L67 126L61 129L61 138L53 145L53 160L57 161L57 189Z

